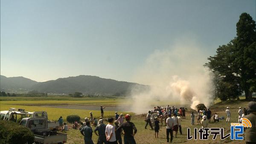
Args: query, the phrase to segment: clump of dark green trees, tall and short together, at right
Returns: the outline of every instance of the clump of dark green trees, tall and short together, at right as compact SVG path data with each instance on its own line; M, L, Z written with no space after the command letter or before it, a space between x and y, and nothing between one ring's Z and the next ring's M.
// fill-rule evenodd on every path
M215 98L238 98L244 92L252 100L256 92L256 24L250 14L242 13L236 23L236 37L219 46L205 66L215 75Z

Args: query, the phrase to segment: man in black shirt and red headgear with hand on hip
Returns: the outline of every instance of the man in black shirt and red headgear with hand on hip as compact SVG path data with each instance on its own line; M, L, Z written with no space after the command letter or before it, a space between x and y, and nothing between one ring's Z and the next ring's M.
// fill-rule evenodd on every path
M122 125L120 125L117 129L123 129L125 132L124 135L124 142L125 144L136 144L136 141L134 139L134 135L137 133L137 128L135 127L134 123L130 122L131 120L131 115L125 115L125 120L126 123L123 123ZM134 130L134 132L133 132Z

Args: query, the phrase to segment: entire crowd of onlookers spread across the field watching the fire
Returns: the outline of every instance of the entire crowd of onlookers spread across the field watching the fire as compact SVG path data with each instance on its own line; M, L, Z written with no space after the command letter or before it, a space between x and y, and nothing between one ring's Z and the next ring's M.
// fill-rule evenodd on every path
M101 106L101 117L99 121L93 117L93 113L90 112L90 118L84 118L84 122L79 124L75 122L73 124L74 129L80 130L81 134L84 136L85 144L93 144L92 135L93 132L98 136L97 144L122 144L122 135L125 144L136 144L134 135L137 133L137 128L134 123L131 122L131 115L122 113L118 115L118 112L115 112L113 118L103 119L105 107ZM256 122L256 102L249 102L248 108L239 107L238 118L239 123L242 122L241 118L248 118L252 124ZM227 115L226 122L230 122L231 112L230 107L227 107L225 110ZM249 115L250 113L250 115ZM211 118L214 122L219 122L220 119L224 119L224 116L219 117L215 112L212 115L210 108L204 108L203 110L198 110L195 115L192 111L190 114L191 125L195 125L195 117L197 118L197 124L201 125L202 128L207 128ZM154 130L155 138L159 138L160 124L161 126L166 127L166 139L167 143L172 142L173 138L177 138L178 131L182 135L182 119L186 119L186 109L180 107L154 107L154 109L149 110L145 118L145 129L149 125L151 130ZM108 124L104 124L104 121L108 121ZM63 123L62 117L58 119L60 124L61 131L67 131L70 127L66 123ZM64 127L63 127L64 126ZM92 129L92 126L95 127L95 130ZM253 126L255 127L255 126ZM249 131L249 132L248 132ZM246 141L256 141L254 134L255 130L249 129L246 130ZM170 136L170 137L169 137ZM254 139L253 139L254 138Z

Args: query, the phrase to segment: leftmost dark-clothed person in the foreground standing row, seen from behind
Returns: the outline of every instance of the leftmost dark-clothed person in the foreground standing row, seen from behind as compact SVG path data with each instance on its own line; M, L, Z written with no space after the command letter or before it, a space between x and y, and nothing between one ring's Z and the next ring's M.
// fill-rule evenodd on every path
M90 127L90 121L86 122L86 126L84 126L80 132L84 135L84 144L93 144L93 129Z

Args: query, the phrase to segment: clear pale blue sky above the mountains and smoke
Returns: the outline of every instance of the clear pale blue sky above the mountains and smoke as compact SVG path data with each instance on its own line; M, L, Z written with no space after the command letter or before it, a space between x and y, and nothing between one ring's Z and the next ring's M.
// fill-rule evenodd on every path
M242 12L256 19L256 0L1 0L0 12L1 75L131 81L184 35L214 55L236 36Z

